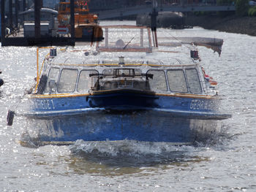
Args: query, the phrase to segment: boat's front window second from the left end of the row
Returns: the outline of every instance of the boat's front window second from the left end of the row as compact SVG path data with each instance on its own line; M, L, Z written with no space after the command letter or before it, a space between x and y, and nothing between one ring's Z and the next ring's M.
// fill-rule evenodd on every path
M76 69L62 69L59 80L58 92L70 93L75 91L75 84L78 77Z

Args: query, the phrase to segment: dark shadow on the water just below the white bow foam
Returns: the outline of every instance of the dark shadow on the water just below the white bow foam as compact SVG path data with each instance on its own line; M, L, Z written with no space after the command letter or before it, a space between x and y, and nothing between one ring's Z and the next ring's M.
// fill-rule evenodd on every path
M138 144L138 145L141 145ZM108 144L107 144L108 146ZM116 146L119 148L118 146ZM127 146L126 146L127 147ZM94 163L105 164L107 166L156 166L157 164L169 164L178 163L180 161L186 161L191 158L190 155L186 154L186 151L178 151L178 147L176 149L173 147L173 151L160 151L157 152L150 152L146 151L146 145L144 145L145 151L135 151L134 149L131 150L121 150L113 152L102 152L99 149L95 148L93 150L71 150L73 157L84 158L86 161L91 161ZM194 158L194 157L193 157Z

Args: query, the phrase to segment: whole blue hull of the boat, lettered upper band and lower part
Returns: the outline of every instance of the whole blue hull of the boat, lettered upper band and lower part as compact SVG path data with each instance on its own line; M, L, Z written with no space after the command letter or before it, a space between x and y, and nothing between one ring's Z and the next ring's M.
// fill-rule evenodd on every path
M219 120L229 118L214 111L211 99L201 100L163 96L157 99L162 107L97 108L89 107L86 96L34 99L26 114L28 133L39 143L129 139L191 145L219 131Z

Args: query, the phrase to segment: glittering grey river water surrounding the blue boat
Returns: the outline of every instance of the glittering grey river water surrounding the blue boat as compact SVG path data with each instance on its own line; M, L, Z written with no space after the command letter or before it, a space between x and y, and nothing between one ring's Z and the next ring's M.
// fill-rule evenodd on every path
M195 146L23 147L26 120L17 117L12 127L5 120L34 82L36 47L0 47L0 191L256 191L256 37L203 28L159 32L224 39L221 57L198 47L206 72L219 82L223 108L233 115L222 121L222 133Z

